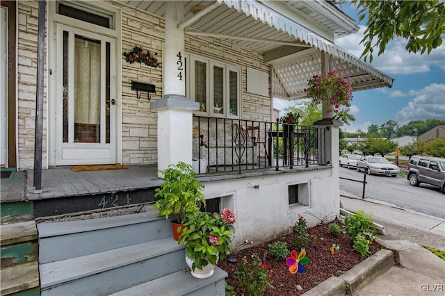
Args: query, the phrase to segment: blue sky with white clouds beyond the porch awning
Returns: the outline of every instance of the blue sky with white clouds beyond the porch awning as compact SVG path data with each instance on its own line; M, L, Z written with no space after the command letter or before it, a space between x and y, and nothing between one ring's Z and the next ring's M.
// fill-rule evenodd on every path
M341 9L357 24L353 6L345 3ZM363 45L359 41L363 38L365 25L364 21L360 22L357 33L339 38L335 44L354 56L361 56ZM388 120L398 122L398 126L412 120L445 120L445 40L429 55L408 54L405 45L406 40L397 38L387 44L384 54L377 56L375 50L371 65L391 76L394 83L392 88L353 92L350 111L356 120L350 125L343 125L343 131L367 131L371 124L380 126ZM274 108L283 110L298 102L275 99Z

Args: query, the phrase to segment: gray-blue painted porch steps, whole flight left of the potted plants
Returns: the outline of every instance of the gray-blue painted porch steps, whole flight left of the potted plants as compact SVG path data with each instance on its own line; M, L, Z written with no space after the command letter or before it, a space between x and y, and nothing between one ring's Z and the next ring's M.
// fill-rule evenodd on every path
M156 213L39 223L41 295L224 295L227 273L193 278Z

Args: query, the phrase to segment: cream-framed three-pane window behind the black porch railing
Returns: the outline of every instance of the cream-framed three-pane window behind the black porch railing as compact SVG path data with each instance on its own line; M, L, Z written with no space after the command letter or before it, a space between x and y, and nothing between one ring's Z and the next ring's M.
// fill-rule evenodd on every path
M238 118L241 70L216 60L186 56L187 97L200 104L198 115Z

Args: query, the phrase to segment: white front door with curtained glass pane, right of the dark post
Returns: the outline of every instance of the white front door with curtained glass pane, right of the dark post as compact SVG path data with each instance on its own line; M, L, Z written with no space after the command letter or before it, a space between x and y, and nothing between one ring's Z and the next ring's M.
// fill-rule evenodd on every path
M115 39L57 24L56 53L56 165L115 163Z

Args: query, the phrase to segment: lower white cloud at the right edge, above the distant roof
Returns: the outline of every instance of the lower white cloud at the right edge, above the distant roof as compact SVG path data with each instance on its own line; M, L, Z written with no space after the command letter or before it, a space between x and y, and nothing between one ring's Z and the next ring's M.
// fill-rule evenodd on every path
M412 120L445 119L445 84L432 83L410 94L415 95L414 99L397 113L399 125Z

